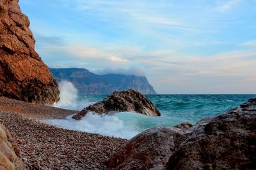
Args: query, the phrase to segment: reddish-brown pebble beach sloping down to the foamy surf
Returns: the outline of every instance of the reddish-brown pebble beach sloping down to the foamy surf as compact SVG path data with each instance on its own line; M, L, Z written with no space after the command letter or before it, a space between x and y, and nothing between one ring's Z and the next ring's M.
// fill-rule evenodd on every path
M70 131L39 121L64 118L77 111L0 97L0 123L17 140L28 169L104 169L106 160L126 141Z

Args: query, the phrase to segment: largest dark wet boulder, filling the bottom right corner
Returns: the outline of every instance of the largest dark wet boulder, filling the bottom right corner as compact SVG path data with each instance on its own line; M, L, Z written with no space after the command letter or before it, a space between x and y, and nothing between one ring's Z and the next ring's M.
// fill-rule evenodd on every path
M256 169L256 98L190 130L167 169Z

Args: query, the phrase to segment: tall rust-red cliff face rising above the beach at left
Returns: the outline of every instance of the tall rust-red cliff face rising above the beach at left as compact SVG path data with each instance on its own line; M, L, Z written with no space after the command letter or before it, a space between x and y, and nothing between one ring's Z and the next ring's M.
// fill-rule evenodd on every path
M35 51L19 0L0 1L0 96L30 103L59 100L56 80Z

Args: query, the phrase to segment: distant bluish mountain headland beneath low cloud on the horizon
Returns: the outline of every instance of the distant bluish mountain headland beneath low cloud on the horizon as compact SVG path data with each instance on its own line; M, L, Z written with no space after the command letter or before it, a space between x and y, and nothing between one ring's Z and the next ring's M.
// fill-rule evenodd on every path
M50 68L54 78L60 82L67 80L74 84L80 94L111 94L114 91L134 89L142 94L156 94L145 76L124 74L94 74L87 69Z

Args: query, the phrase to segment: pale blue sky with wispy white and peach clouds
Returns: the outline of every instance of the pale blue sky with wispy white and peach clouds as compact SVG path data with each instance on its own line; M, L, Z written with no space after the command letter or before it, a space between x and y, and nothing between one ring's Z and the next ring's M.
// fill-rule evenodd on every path
M20 0L49 67L147 76L159 94L256 94L254 0Z

